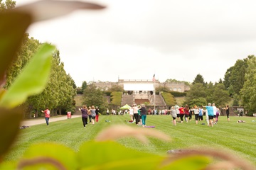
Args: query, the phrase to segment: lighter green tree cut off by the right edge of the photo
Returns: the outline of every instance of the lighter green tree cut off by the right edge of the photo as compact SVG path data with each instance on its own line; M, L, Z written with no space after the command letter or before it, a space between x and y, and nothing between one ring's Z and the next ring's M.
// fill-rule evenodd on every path
M256 111L256 57L247 62L245 84L240 91L242 104L250 111Z

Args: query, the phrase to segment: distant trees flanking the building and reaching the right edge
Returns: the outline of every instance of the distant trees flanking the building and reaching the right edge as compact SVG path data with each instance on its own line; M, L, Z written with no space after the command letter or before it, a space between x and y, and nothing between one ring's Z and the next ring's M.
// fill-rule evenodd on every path
M173 79L167 79L166 82L177 81ZM188 83L188 82L186 82ZM243 60L237 60L234 66L227 69L225 72L224 80L220 79L218 82L205 82L203 76L198 74L190 85L190 90L186 93L181 93L186 95L185 101L183 101L183 106L188 104L188 106L205 106L207 103L215 103L215 106L223 108L230 101L231 106L244 106L248 111L247 115L256 112L256 57L250 55ZM89 89L87 89L90 87ZM87 89L87 90L86 90ZM97 103L106 106L104 103L104 97L102 101L99 100L92 101L94 91L98 91L97 97L99 98L99 91L95 85L88 85L86 81L82 82L82 88L80 88L84 94L85 103ZM124 91L120 86L113 86L111 91ZM160 92L170 93L175 95L173 92L164 86L156 88L156 94ZM90 95L89 95L90 94ZM87 96L90 96L90 101ZM106 96L106 92L102 91L102 95ZM104 103L104 104L103 104ZM175 103L172 102L172 103Z

